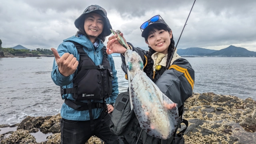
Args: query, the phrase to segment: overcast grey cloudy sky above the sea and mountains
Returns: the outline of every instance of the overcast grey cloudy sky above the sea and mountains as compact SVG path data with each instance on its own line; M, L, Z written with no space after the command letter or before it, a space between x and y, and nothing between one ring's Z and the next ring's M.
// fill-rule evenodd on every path
M160 14L178 41L194 0L2 0L2 47L57 48L77 29L74 20L91 4L106 9L112 28L146 49L140 25ZM177 48L256 51L256 0L196 0ZM105 42L106 43L106 42Z

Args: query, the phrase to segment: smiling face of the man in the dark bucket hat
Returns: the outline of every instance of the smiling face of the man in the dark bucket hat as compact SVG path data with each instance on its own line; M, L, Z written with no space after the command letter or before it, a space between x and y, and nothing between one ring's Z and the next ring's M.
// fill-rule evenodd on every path
M103 27L104 21L101 15L96 13L89 13L86 15L84 20L84 30L89 39L97 38L102 33Z

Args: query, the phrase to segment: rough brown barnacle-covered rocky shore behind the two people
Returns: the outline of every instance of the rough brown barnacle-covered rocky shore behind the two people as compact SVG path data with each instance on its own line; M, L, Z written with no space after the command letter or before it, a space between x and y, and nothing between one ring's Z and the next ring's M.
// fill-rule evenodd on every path
M20 124L0 125L0 143L60 144L60 118L60 114L28 116ZM183 118L189 122L184 135L186 144L256 143L256 101L251 98L242 100L211 92L194 93L185 103ZM17 130L3 133L1 130L4 128ZM48 134L45 141L37 143L34 134L38 132ZM87 144L102 144L102 141L91 137Z

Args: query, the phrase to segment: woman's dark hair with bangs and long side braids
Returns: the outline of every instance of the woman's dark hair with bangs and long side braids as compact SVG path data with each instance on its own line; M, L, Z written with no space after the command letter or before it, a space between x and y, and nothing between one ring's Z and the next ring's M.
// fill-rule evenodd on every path
M166 26L166 25L163 26L163 25L156 24L156 25L154 25L154 27L153 26L149 27L148 34L150 34L152 32L155 32L155 29L156 30L164 30L164 31L169 32L169 33L171 32L171 29L168 26ZM148 34L147 34L147 37L145 37L145 41L148 41ZM167 58L167 61L166 61L166 66L167 66L168 62L170 61L170 58L171 58L172 53L174 51L174 44L175 44L175 42L173 40L173 35L172 35L171 43L170 43L169 48L168 48L168 58ZM148 50L147 55L146 55L147 59L148 59L148 64L144 68L144 72L147 74L147 76L149 76L150 70L152 68L152 66L150 65L150 63L152 61L151 56L152 56L152 54L154 54L156 52L150 46L148 46L148 48L149 48L149 50Z

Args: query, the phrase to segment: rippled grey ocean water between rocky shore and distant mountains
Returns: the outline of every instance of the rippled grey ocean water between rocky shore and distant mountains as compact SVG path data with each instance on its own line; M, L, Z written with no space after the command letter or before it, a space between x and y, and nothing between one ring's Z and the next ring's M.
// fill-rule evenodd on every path
M186 58L195 71L194 92L214 92L256 100L256 58ZM119 92L128 88L121 58L114 57ZM53 58L0 58L0 124L26 116L60 113L64 102L51 79Z

